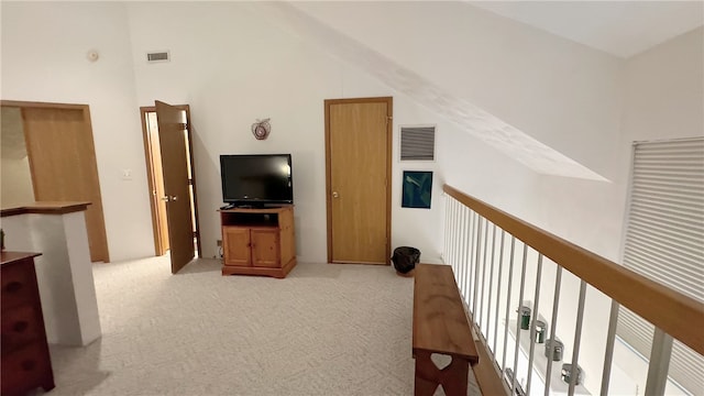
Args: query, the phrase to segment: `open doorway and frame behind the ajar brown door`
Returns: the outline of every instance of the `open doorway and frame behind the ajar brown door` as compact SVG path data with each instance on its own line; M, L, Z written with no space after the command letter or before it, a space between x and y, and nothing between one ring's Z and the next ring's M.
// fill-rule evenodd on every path
M196 177L194 172L194 154L191 140L190 109L188 105L174 106L180 111L184 120L184 139L186 141L186 167L188 174L188 199L190 200L190 217L193 224L193 249L201 257L200 232L198 226L198 206L196 194ZM144 155L146 160L146 176L150 189L150 206L152 208L152 229L154 234L154 255L166 254L170 249L168 239L167 197L164 189L164 173L162 153L160 150L158 123L155 107L141 107L142 132L144 139Z

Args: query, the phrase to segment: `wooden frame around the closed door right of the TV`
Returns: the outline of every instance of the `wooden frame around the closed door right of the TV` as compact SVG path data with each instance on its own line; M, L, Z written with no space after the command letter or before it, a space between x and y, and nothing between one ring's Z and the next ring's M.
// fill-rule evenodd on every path
M394 98L350 98L326 99L326 208L328 220L328 263L332 263L332 172L330 157L330 107L333 105L351 103L386 103L386 264L391 264L392 254L392 157L393 157L393 131L394 131Z

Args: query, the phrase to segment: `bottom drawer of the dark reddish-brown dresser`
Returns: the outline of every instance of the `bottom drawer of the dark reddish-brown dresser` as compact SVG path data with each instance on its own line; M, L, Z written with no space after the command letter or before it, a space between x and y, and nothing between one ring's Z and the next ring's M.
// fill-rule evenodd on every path
M2 356L2 394L54 387L46 345L40 342ZM46 389L48 391L48 389Z

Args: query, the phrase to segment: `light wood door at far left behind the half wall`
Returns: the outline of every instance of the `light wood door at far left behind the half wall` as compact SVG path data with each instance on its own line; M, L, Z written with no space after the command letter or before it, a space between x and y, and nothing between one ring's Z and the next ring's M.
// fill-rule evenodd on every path
M96 148L87 106L22 106L22 122L37 201L90 201L86 229L90 261L109 262Z

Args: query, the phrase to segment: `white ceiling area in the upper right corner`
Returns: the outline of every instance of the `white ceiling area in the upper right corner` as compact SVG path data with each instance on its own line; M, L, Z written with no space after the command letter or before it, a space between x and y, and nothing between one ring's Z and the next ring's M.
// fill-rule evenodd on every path
M622 58L704 24L704 1L469 2Z

